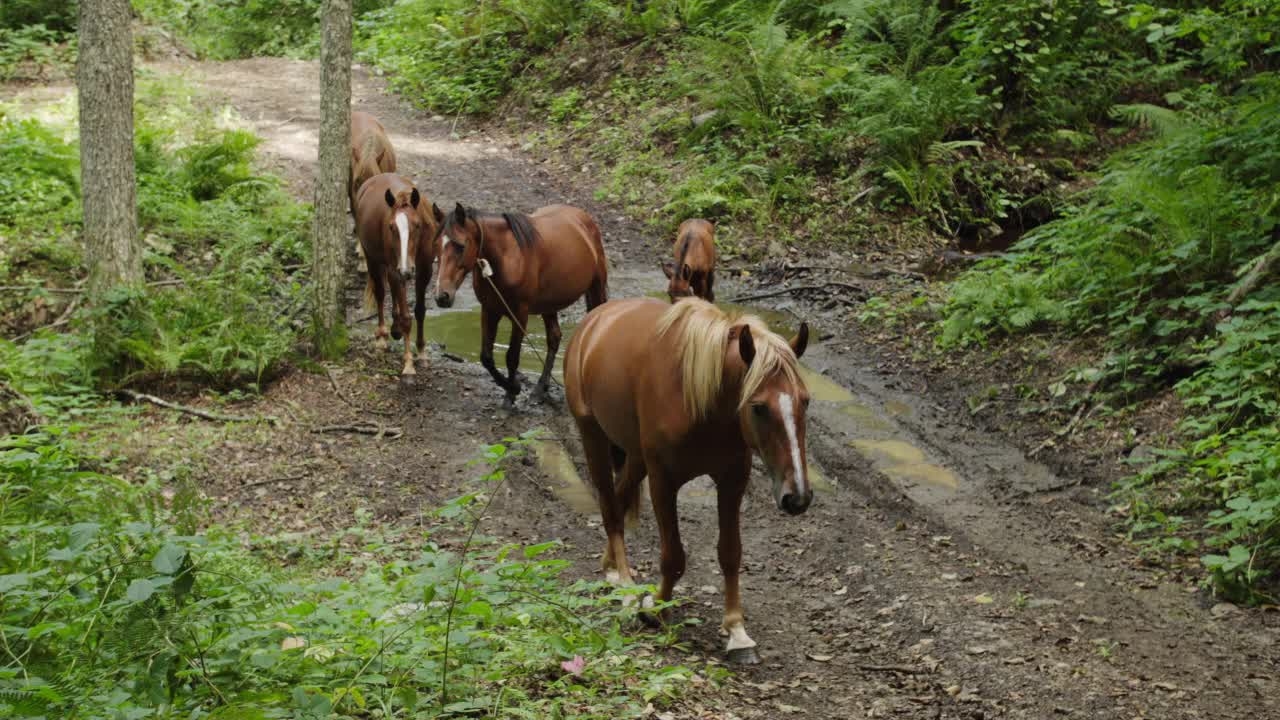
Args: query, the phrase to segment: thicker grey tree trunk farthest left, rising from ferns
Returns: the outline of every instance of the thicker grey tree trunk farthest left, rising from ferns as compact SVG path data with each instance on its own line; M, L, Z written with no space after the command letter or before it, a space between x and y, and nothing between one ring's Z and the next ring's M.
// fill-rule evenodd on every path
M142 282L133 177L133 31L129 0L81 0L81 193L91 302Z

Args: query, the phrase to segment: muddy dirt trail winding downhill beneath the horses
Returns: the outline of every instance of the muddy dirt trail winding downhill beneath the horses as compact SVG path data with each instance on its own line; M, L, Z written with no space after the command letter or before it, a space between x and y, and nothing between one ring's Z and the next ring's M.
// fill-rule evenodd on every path
M319 92L310 63L257 59L169 65L225 95L266 138L264 150L310 195ZM356 106L392 133L402 172L442 208L456 200L531 210L567 201L600 223L613 273L611 295L662 288L657 245L616 209L567 187L516 143L429 118L356 73ZM353 277L351 318L362 315ZM733 295L727 283L724 296ZM460 293L460 299L470 292ZM796 307L796 311L804 311ZM434 307L428 328L449 354L474 357L474 316ZM581 314L571 313L570 320ZM780 315L771 318L777 320ZM820 319L819 319L820 323ZM443 328L443 329L442 329ZM805 357L809 452L826 489L804 516L777 512L758 484L744 518L744 598L764 664L745 669L709 700L716 717L1274 717L1280 684L1280 618L1210 606L1185 583L1142 566L1112 534L1102 491L1075 488L936 405L928 387L897 370L865 366L870 352L838 327ZM447 331L447 332L445 332ZM502 331L506 333L506 329ZM566 328L566 334L570 332ZM454 334L449 334L454 333ZM384 442L285 428L215 448L207 478L227 514L306 530L342 527L355 505L379 519L412 520L471 477L479 443L548 429L543 462L526 466L494 503L486 529L524 541L561 538L575 571L598 568L603 534L581 511L580 447L558 406L500 413L500 391L474 363L433 352L433 369L397 382L392 355L353 351L328 378L297 373L265 404L311 423L355 418L402 425ZM540 341L535 340L539 346ZM526 352L522 369L536 372ZM364 410L357 410L362 407ZM381 414L379 414L381 413ZM279 479L285 478L285 479ZM262 483L262 480L271 480ZM714 500L705 484L681 496L689 574L684 612L695 652L721 639ZM652 520L630 534L645 579L657 573ZM690 710L684 716L694 716Z

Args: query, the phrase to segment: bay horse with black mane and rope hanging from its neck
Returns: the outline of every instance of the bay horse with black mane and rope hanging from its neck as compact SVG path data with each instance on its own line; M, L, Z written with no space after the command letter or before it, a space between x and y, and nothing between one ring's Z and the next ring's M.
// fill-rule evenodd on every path
M452 306L458 286L471 273L471 288L480 301L480 363L498 387L507 391L508 407L520 395L520 347L529 315L543 316L547 357L532 396L540 401L559 350L558 313L584 296L588 310L609 299L600 228L586 210L570 205L539 208L530 215L499 215L458 204L445 218L439 237L435 304ZM506 378L493 363L493 343L502 318L511 320Z

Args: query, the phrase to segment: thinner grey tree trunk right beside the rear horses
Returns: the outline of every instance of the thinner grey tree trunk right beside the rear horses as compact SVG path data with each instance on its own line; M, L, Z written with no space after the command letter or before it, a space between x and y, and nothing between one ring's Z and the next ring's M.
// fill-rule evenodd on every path
M320 45L320 159L316 168L312 273L315 347L347 350L347 178L351 172L351 0L325 0Z

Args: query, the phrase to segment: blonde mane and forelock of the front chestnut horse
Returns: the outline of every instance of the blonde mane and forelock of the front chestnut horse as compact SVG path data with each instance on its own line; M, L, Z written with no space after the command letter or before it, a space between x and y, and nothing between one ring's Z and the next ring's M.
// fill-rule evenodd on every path
M724 383L724 352L728 334L735 325L751 328L755 359L742 378L737 406L742 407L774 373L783 373L791 383L800 384L796 355L787 341L769 329L755 315L728 314L719 307L687 297L663 313L658 337L677 333L685 409L695 420L705 418L719 401Z

